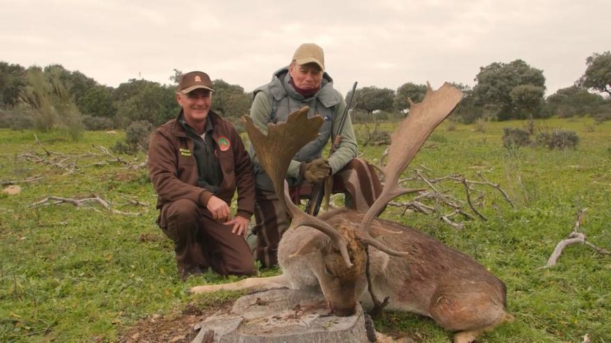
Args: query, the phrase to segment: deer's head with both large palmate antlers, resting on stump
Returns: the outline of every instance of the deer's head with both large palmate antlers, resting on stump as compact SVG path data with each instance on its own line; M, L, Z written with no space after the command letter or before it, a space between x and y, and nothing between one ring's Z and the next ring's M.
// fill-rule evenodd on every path
M462 92L447 82L437 91L427 84L427 91L421 103L410 102L410 114L392 134L389 148L389 161L383 168L386 183L378 200L372 204L362 222L342 221L339 227L332 227L320 218L310 216L295 206L287 193L285 177L292 157L306 143L315 139L324 119L321 116L308 118L308 107L293 112L283 123L268 124L267 135L258 130L250 117L245 116L246 132L256 150L262 168L269 175L281 204L292 217L292 227L307 226L315 228L328 240L312 238L303 243L295 256L317 252L321 261L317 263L317 279L330 307L338 315L354 313L355 288L359 279L365 276L367 254L365 248L371 245L391 256L405 256L382 245L376 236L381 234L400 234L396 231L372 229L371 220L380 213L385 204L394 197L413 192L398 188L397 184L403 170L421 148L431 132L458 105ZM330 244L328 241L330 240Z

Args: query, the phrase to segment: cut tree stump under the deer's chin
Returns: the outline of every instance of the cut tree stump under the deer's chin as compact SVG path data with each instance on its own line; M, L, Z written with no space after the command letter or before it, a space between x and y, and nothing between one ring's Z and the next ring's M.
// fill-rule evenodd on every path
M322 294L267 290L240 297L229 313L216 313L198 324L192 343L369 342L359 304L350 317L328 313Z

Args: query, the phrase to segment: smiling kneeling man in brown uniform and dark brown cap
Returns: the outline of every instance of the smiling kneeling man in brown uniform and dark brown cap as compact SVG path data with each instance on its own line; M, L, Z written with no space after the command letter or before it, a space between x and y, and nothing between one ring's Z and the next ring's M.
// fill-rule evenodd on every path
M181 112L153 132L149 143L157 222L174 241L183 281L208 267L222 275L254 272L244 240L255 195L251 161L233 125L210 110L213 92L206 73L186 73L176 92ZM231 218L236 188L237 213Z

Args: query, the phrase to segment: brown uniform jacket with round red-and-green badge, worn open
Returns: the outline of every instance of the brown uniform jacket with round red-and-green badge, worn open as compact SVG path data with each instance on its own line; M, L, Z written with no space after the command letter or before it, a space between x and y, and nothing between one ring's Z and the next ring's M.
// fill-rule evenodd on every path
M182 112L178 117L181 115ZM223 173L217 197L231 204L237 188L237 216L250 219L255 202L250 157L231 123L212 111L208 116L214 125L212 139L216 143L215 156ZM192 154L193 146L192 139L187 137L177 118L153 132L149 142L149 176L158 195L158 209L178 199L190 199L206 208L208 200L214 195L197 186L197 162Z

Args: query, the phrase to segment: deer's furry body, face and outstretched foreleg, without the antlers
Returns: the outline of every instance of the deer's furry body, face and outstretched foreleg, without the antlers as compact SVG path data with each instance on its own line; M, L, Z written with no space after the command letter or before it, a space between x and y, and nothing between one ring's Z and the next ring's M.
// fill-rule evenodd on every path
M339 209L322 213L319 218L333 227L351 227L363 216ZM407 256L390 256L369 247L373 290L390 297L385 310L430 317L442 328L457 332L454 342L460 343L472 342L481 333L513 320L505 312L505 285L473 258L396 222L377 218L372 226L399 231L376 239L409 252ZM351 275L357 277L340 279L346 269L342 256L330 238L317 229L306 226L286 231L278 246L278 262L283 271L279 276L196 286L192 292L278 287L310 290L322 292L337 315L353 314L357 301L365 309L374 305L367 292L365 263L354 263L356 270Z

